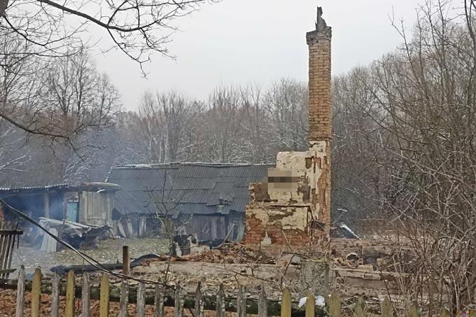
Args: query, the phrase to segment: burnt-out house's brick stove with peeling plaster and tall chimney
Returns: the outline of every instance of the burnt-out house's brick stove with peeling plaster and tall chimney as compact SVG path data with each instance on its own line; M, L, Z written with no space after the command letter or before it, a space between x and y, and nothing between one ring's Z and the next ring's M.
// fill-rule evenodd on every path
M307 251L330 230L331 28L318 8L309 47L309 150L281 152L266 182L251 183L246 244ZM317 250L318 248L316 248Z

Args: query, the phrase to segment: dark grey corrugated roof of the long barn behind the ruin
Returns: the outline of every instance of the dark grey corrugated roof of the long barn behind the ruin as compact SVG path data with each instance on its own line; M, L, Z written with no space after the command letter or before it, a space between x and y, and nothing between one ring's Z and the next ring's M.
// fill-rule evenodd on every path
M170 209L188 214L244 213L249 183L263 181L268 167L274 165L123 165L111 169L107 181L124 189L116 193L115 206L120 213L165 213Z

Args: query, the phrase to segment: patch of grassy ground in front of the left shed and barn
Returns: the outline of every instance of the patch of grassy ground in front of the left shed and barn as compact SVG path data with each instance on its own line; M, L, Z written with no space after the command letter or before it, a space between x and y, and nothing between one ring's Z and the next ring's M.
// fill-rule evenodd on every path
M131 258L137 258L148 253L163 254L167 252L167 239L141 238L141 239L106 239L99 241L94 250L81 250L101 263L116 263L123 259L123 246L130 246ZM36 267L41 267L47 272L56 265L83 265L87 264L79 255L71 250L63 250L55 253L45 253L39 248L32 248L20 241L20 247L13 250L11 267L25 266L27 274L33 274ZM15 273L13 274L13 276Z

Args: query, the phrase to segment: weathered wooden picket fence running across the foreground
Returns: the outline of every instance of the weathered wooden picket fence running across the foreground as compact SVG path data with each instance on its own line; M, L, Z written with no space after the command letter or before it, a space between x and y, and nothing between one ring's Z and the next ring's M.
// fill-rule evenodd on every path
M92 298L99 300L99 316L106 317L109 314L109 303L111 297L116 295L111 293L111 284L109 281L108 274L102 274L102 279L100 282L99 290L90 286L90 280L87 273L83 273L82 283L80 286L80 291L76 289L75 285L75 276L73 271L70 271L66 276L66 287L62 295L65 295L65 317L76 316L75 312L75 298L79 293L80 296L77 298L81 299L81 315L82 317L90 316L90 300ZM25 304L25 269L22 267L19 271L18 282L17 282L17 302L16 302L16 314L15 317L23 317L24 304ZM43 286L44 283L43 283ZM30 288L30 287L29 287ZM40 297L44 288L42 288L42 274L41 269L36 269L33 276L33 281L31 283L31 317L40 317ZM61 279L60 276L55 274L51 280L51 309L50 316L59 317L59 301L61 293ZM330 316L330 317L341 317L346 316L342 313L341 300L337 293L332 293L328 298L325 307L316 307L315 306L315 297L312 293L308 292L306 294L307 300L306 304L302 309L297 309L296 305L293 304L290 291L288 289L283 290L281 300L279 302L267 300L264 288L260 290L260 296L258 300L253 300L251 298L246 298L246 293L244 288L239 288L238 295L236 298L225 297L225 291L223 284L218 288L218 293L214 297L204 296L201 290L200 283L198 283L197 290L195 295L190 300L190 297L187 297L183 292L181 286L176 286L174 293L172 294L172 299L169 298L170 293L167 293L162 286L157 283L155 284L155 290L153 296L149 296L146 292L146 286L144 283L139 283L137 288L134 290L134 294L130 294L129 283L123 281L120 287L120 293L118 294L119 306L120 306L120 317L128 316L127 313L127 304L130 302L136 304L136 311L138 317L146 316L146 304L153 305L154 316L162 317L164 315L164 307L171 306L174 307L174 317L182 317L183 309L189 308L194 309L195 317L203 317L204 311L214 310L216 311L216 316L225 317L225 311L236 311L238 317L245 317L246 314L257 314L259 317L265 316L281 316L281 317L290 317L290 316L316 316L316 313L319 311L319 316ZM132 296L131 296L132 295ZM364 316L382 316L382 317L393 317L397 316L393 312L393 305L388 297L381 302L381 314L375 315L370 314L367 311L365 302L362 297L359 298L356 306L354 308L353 314L354 317L364 317ZM407 309L406 317L417 317L420 316L419 308L416 304ZM449 317L450 314L446 309L441 309L440 317Z

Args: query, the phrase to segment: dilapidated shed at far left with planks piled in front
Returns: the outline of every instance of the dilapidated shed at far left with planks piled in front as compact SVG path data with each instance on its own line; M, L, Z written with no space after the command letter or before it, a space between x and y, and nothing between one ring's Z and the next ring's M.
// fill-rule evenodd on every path
M44 230L76 248L91 247L109 236L114 194L120 187L111 183L57 184L22 188L0 188L0 218L21 223L23 239L41 251L63 248L15 210L35 220Z

